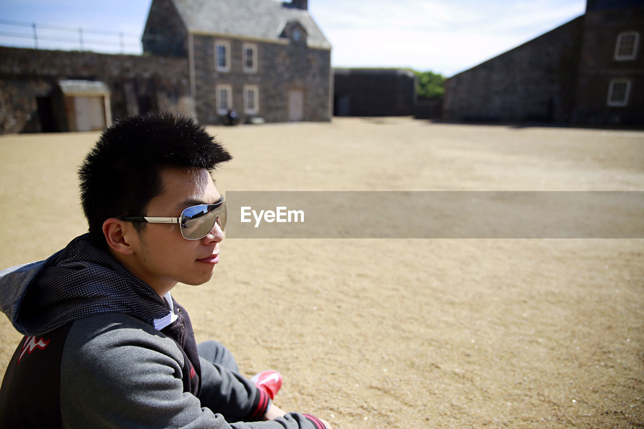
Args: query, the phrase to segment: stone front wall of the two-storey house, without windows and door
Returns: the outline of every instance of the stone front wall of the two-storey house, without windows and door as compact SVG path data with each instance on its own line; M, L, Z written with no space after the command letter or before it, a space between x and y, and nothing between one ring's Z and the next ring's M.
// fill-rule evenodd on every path
M214 43L216 40L230 43L229 72L218 72L215 69ZM310 49L306 44L243 41L209 35L193 35L193 43L195 101L200 122L222 124L225 120L218 114L216 108L215 88L218 84L231 85L232 105L242 122L251 119L250 115L245 115L243 112L244 85L256 85L259 89L259 111L252 117L261 117L266 122L288 121L289 91L301 90L304 93L303 120L331 119L330 51ZM258 68L255 73L243 71L243 43L257 46Z

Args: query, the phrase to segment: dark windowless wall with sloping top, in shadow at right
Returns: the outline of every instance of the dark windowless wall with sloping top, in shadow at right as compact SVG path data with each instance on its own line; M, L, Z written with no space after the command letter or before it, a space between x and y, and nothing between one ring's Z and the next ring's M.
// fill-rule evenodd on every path
M447 120L571 120L583 31L578 17L446 82Z

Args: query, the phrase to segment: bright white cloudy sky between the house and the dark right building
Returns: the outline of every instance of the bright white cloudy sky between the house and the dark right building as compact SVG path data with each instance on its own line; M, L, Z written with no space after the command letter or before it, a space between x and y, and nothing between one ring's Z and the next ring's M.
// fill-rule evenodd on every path
M447 75L533 39L585 10L584 0L355 0L339 8L333 3L317 4L311 13L334 47L334 66L410 66Z

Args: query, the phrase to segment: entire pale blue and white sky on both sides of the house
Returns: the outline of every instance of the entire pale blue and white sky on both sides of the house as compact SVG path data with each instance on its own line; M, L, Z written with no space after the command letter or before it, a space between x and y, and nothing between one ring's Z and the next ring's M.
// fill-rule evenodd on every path
M0 0L0 44L33 48L33 28L14 23L36 23L39 48L77 50L82 37L88 50L140 53L150 3ZM310 14L333 46L332 66L413 68L448 77L571 21L585 5L585 0L308 0ZM82 35L77 28L83 28Z

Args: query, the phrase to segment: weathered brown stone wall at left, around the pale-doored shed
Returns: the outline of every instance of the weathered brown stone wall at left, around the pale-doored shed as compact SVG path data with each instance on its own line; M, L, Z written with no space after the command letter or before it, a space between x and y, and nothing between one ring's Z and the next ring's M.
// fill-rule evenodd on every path
M66 131L54 101L65 79L107 84L112 119L147 109L194 116L187 59L0 47L0 133ZM54 110L53 129L44 105Z

